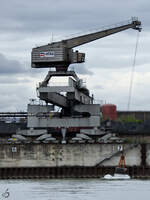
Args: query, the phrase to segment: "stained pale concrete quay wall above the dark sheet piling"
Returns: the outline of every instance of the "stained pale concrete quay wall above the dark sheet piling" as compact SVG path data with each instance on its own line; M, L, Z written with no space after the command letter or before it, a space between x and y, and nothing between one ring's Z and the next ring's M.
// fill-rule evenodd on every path
M0 144L0 168L117 166L120 146L126 165L150 166L150 144Z

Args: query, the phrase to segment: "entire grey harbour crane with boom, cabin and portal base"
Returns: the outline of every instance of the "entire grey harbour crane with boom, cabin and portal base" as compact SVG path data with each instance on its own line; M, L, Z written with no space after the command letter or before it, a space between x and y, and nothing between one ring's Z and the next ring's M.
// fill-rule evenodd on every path
M50 70L37 87L39 99L46 104L28 105L28 135L44 134L49 128L58 128L65 143L65 135L70 128L78 128L83 137L101 134L100 105L93 103L93 96L76 73L68 70L70 64L85 62L85 54L74 52L73 48L130 28L141 31L141 22L133 18L111 28L32 49L32 68L55 70ZM68 86L48 85L52 77L68 77ZM54 106L60 107L61 112L55 112Z

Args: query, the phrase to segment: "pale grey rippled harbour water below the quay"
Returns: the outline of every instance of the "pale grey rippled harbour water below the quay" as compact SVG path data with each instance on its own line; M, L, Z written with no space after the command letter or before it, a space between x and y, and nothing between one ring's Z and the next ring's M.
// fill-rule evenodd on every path
M8 188L9 197L2 194ZM0 199L149 200L150 180L38 179L0 180Z

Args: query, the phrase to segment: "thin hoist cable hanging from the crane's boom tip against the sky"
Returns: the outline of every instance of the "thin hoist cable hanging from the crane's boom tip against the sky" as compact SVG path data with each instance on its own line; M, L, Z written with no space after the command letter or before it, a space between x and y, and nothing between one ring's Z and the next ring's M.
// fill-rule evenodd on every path
M129 97L128 97L128 105L127 105L127 110L130 110L130 105L131 105L131 97L132 97L132 90L133 90L133 80L134 80L134 72L135 72L135 64L136 64L136 55L137 55L137 49L138 49L138 44L139 44L139 34L140 32L138 31L137 33L137 39L136 39L136 45L135 45L135 52L134 52L134 58L133 58L133 65L132 65L132 70L131 70L131 78L130 78L130 85L129 85Z

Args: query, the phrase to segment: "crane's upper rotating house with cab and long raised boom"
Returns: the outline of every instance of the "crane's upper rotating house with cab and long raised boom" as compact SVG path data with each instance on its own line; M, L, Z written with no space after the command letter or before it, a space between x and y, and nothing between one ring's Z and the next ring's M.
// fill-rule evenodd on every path
M141 22L137 18L124 24L117 24L114 27L102 31L81 35L78 37L53 42L44 46L32 49L33 68L56 68L56 71L66 72L70 64L85 62L85 53L73 51L74 47L92 42L94 40L124 31L126 29L141 31Z

